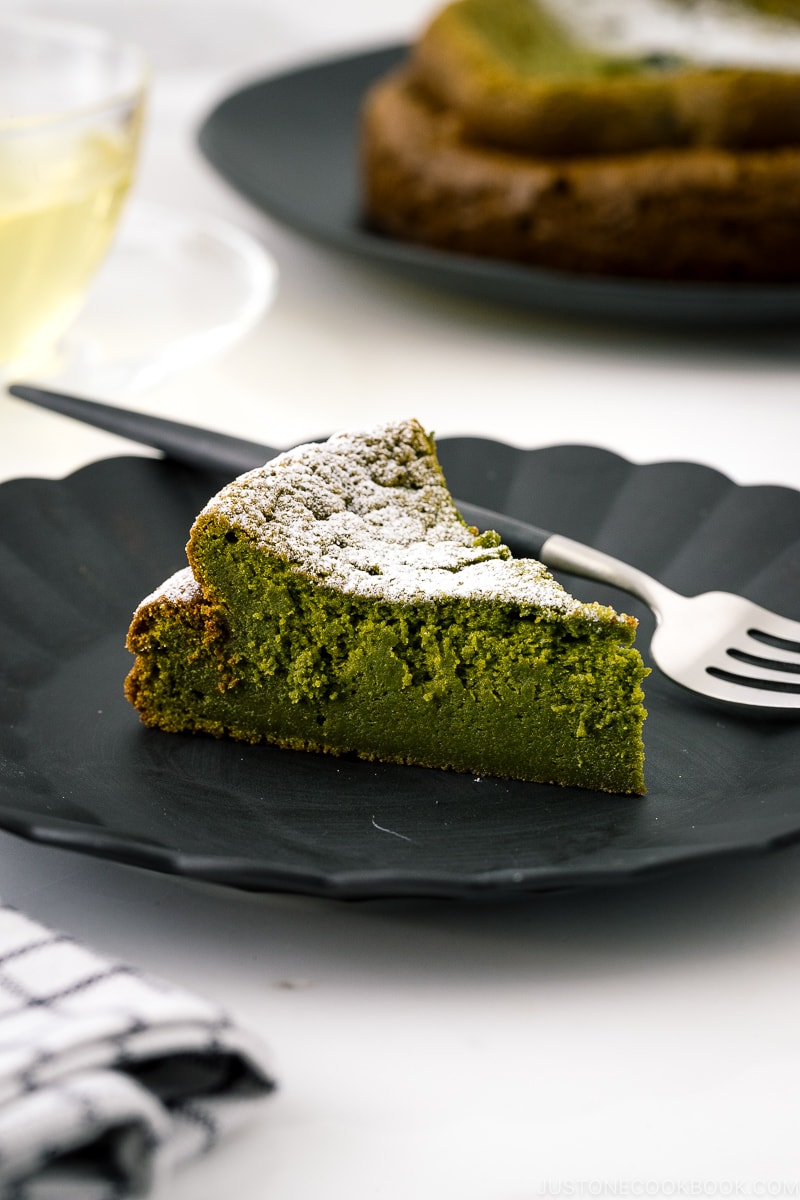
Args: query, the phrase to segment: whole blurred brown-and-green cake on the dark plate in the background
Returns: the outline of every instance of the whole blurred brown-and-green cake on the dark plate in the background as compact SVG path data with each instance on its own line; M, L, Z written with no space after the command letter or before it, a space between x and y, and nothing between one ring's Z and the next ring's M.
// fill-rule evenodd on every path
M582 275L800 280L800 73L613 60L457 0L365 96L374 232Z

